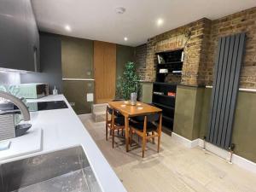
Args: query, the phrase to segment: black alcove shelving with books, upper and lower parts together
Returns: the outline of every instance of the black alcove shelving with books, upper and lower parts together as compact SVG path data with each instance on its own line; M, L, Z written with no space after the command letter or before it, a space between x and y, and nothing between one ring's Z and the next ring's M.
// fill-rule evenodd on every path
M166 126L166 130L172 132L176 96L168 96L167 93L176 93L177 84L180 83L183 70L183 49L158 52L156 56L156 82L153 84L152 102L156 107L162 109L162 124ZM160 73L160 71L166 73ZM168 75L172 75L173 81L177 83L166 83L166 81L172 80L168 78ZM163 95L155 94L154 92L160 92Z

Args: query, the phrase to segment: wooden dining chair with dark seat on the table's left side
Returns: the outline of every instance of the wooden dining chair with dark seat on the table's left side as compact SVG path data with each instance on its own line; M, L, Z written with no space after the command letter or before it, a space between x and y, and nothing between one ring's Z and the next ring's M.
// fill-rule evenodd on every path
M110 119L109 119L109 116ZM113 148L113 143L114 143L114 132L119 130L123 132L125 130L125 117L121 115L119 112L113 110L113 108L109 108L107 106L106 110L106 141L108 141L108 129L110 130L110 136L112 137L112 148Z

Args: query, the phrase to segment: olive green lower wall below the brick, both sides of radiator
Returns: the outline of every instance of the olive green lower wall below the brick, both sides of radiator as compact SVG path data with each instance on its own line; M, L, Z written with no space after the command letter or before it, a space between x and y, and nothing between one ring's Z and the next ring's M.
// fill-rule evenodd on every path
M177 86L173 131L189 140L207 136L212 89ZM235 154L256 162L256 93L239 91L232 132Z

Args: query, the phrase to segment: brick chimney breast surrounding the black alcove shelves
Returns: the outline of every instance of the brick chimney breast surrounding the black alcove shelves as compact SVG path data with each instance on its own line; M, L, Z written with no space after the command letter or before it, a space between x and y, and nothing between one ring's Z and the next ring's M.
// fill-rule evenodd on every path
M186 26L178 27L169 32L165 32L154 38L148 39L147 51L146 51L146 61L137 62L138 72L141 73L142 79L147 81L155 80L156 73L156 55L157 51L174 50L174 49L184 49L184 60L183 60L183 74L182 77L177 77L174 75L169 75L166 77L167 82L182 84L197 85L201 84L198 82L199 69L201 66L201 47L205 44L205 36L203 32L208 32L205 27L209 26L210 20L203 18L190 23ZM173 44L173 38L184 37L183 44ZM170 42L168 41L170 39ZM160 43L160 49L157 49L157 44ZM137 47L138 50L141 46ZM138 54L139 55L139 54ZM143 55L144 56L144 55ZM137 59L139 61L139 59Z

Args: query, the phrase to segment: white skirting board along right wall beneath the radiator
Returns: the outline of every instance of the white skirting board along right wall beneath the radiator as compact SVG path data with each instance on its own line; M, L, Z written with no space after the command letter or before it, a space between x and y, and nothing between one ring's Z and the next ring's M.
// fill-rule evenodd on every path
M190 141L189 139L177 135L177 133L172 132L172 138L175 139L178 143L182 143L187 148L195 148L197 146L203 148L204 141L200 138ZM217 146L213 145L212 143L206 142L206 149L207 151L211 152L212 154L216 154L219 157L227 160L230 159L230 152L224 150L223 148L218 148ZM233 154L232 163L241 166L242 168L246 169L247 171L256 173L256 163L251 160L247 160L237 154Z

